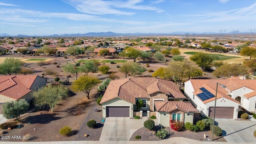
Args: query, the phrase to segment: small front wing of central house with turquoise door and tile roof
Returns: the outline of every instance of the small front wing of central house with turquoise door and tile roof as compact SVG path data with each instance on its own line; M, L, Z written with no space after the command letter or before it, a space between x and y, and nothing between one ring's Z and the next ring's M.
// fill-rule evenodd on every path
M154 104L159 126L170 126L170 120L193 124L194 113L198 112L191 102L156 101Z

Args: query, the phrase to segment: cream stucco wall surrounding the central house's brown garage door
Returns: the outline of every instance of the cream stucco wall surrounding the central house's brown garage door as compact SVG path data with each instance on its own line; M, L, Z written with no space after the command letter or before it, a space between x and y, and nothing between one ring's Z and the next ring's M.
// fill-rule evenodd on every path
M102 115L104 118L106 118L106 106L130 106L130 117L133 117L133 110L131 109L133 107L133 104L130 102L127 102L120 98L115 98L113 100L103 103L102 104ZM104 109L104 107L105 107L105 109Z

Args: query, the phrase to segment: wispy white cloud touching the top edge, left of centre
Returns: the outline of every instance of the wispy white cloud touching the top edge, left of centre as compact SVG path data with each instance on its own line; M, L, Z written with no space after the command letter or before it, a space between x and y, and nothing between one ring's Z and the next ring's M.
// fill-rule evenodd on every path
M75 7L76 10L87 13L87 14L99 14L99 15L103 15L103 14L134 15L135 14L135 12L126 12L123 9L154 10L156 12L162 12L162 10L160 10L156 6L139 5L140 3L143 2L142 0L128 0L128 1L70 0L70 1L64 1L64 2Z

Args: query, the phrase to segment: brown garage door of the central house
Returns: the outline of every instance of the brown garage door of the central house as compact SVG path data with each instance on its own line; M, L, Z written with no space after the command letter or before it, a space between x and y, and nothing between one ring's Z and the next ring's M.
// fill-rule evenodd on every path
M130 106L107 106L106 117L130 117Z

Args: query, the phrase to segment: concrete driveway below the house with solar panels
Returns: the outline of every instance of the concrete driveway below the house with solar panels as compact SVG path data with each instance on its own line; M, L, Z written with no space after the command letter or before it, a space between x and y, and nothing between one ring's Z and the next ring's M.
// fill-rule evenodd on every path
M253 136L256 130L256 121L234 120L216 118L218 126L222 129L222 135L228 142L252 142L256 144L256 138Z

